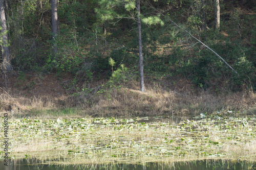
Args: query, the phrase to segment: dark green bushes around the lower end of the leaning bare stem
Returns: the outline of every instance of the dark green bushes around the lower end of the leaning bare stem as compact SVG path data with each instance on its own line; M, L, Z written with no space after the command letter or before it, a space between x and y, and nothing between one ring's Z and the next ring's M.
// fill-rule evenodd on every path
M227 62L234 63L231 66L239 75L235 74L214 53L207 48L201 49L197 45L194 46L194 51L197 52L194 56L184 53L181 48L175 48L173 55L169 57L169 63L175 65L176 74L188 76L192 82L203 89L218 87L221 84L228 84L231 88L238 89L245 81L254 86L256 70L247 55L243 53L243 47L232 43L226 43L224 46L219 44L208 46Z

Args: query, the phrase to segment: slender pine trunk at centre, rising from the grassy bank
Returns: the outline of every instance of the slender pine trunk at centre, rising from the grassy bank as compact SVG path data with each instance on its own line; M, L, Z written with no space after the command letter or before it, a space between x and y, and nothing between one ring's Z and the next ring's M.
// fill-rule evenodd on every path
M137 0L138 13L138 35L139 35L139 63L140 63L140 90L145 92L144 71L143 71L143 56L142 56L142 40L141 40L141 18L140 18L140 0Z

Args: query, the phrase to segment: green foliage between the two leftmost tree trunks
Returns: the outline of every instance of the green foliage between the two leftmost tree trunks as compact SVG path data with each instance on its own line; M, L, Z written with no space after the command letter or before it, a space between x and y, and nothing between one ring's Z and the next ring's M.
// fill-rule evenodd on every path
M8 3L8 35L15 70L38 70L46 62L49 48L46 40L49 39L50 29L47 12L42 17L41 11L50 10L51 4L46 0L41 0L41 3L42 9L37 0Z

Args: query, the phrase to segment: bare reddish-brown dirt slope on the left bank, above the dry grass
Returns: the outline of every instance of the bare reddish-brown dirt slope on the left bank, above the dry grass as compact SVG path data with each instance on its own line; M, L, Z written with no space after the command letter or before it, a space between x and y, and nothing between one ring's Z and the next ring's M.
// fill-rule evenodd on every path
M58 78L55 74L41 75L34 72L29 72L25 76L20 77L19 73L13 72L6 77L5 75L0 77L0 87L8 93L20 94L26 98L34 96L59 98L67 96L67 90L63 84L71 79L72 77L69 75Z

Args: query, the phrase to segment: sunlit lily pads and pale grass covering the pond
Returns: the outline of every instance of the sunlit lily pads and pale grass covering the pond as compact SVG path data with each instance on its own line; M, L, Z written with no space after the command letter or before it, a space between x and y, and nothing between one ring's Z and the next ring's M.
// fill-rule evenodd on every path
M9 156L58 164L212 158L255 161L255 120L214 115L177 123L158 117L12 118Z

